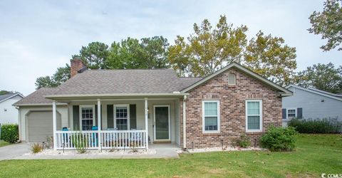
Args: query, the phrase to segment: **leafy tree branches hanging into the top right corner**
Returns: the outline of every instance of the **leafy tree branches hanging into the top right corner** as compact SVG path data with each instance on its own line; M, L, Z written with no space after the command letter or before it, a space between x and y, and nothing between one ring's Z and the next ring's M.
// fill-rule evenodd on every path
M342 42L342 4L341 0L326 0L322 12L314 11L309 17L310 33L321 34L322 39L328 40L321 46L323 51L330 51L341 45ZM341 51L342 47L338 48Z

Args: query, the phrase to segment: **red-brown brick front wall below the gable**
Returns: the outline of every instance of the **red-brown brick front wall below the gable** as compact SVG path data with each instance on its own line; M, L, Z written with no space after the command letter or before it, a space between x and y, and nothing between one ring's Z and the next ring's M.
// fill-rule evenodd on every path
M236 85L228 85L228 74L236 75ZM246 133L245 102L248 99L262 100L262 132L247 132L252 146L259 145L259 136L270 125L281 126L281 98L276 91L259 80L231 68L192 89L186 100L187 148L206 148L235 145L239 135ZM220 101L220 132L202 132L202 100ZM182 135L182 100L180 100L181 145ZM257 140L257 142L255 142Z

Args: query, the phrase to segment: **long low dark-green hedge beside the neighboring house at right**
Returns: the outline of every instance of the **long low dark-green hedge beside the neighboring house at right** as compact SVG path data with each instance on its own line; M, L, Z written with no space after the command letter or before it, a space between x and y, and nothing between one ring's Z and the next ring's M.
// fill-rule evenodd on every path
M299 133L338 133L341 132L342 122L337 118L323 120L292 119L289 126L296 128Z

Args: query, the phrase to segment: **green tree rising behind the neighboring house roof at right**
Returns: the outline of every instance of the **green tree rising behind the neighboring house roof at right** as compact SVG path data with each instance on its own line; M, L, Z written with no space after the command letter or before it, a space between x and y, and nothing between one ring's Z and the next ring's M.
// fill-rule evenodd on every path
M342 66L335 68L333 63L315 64L296 76L296 84L304 88L317 88L331 93L342 92Z

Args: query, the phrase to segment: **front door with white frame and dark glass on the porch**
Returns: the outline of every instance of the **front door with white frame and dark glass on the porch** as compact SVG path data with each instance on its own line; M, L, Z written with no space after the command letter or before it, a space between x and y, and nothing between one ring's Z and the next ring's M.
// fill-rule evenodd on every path
M170 105L153 106L155 140L170 140Z

